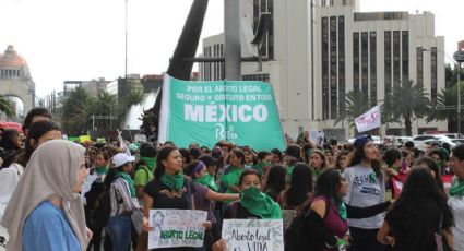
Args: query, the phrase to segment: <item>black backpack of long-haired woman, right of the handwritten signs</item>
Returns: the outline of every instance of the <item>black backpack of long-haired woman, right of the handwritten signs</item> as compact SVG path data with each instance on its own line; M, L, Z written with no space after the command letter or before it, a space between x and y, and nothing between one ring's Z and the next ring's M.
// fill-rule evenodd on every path
M329 203L325 203L325 215L329 212ZM308 223L308 215L311 211L311 203L305 206L298 214L284 235L285 251L305 250L307 248L308 235L305 230Z

